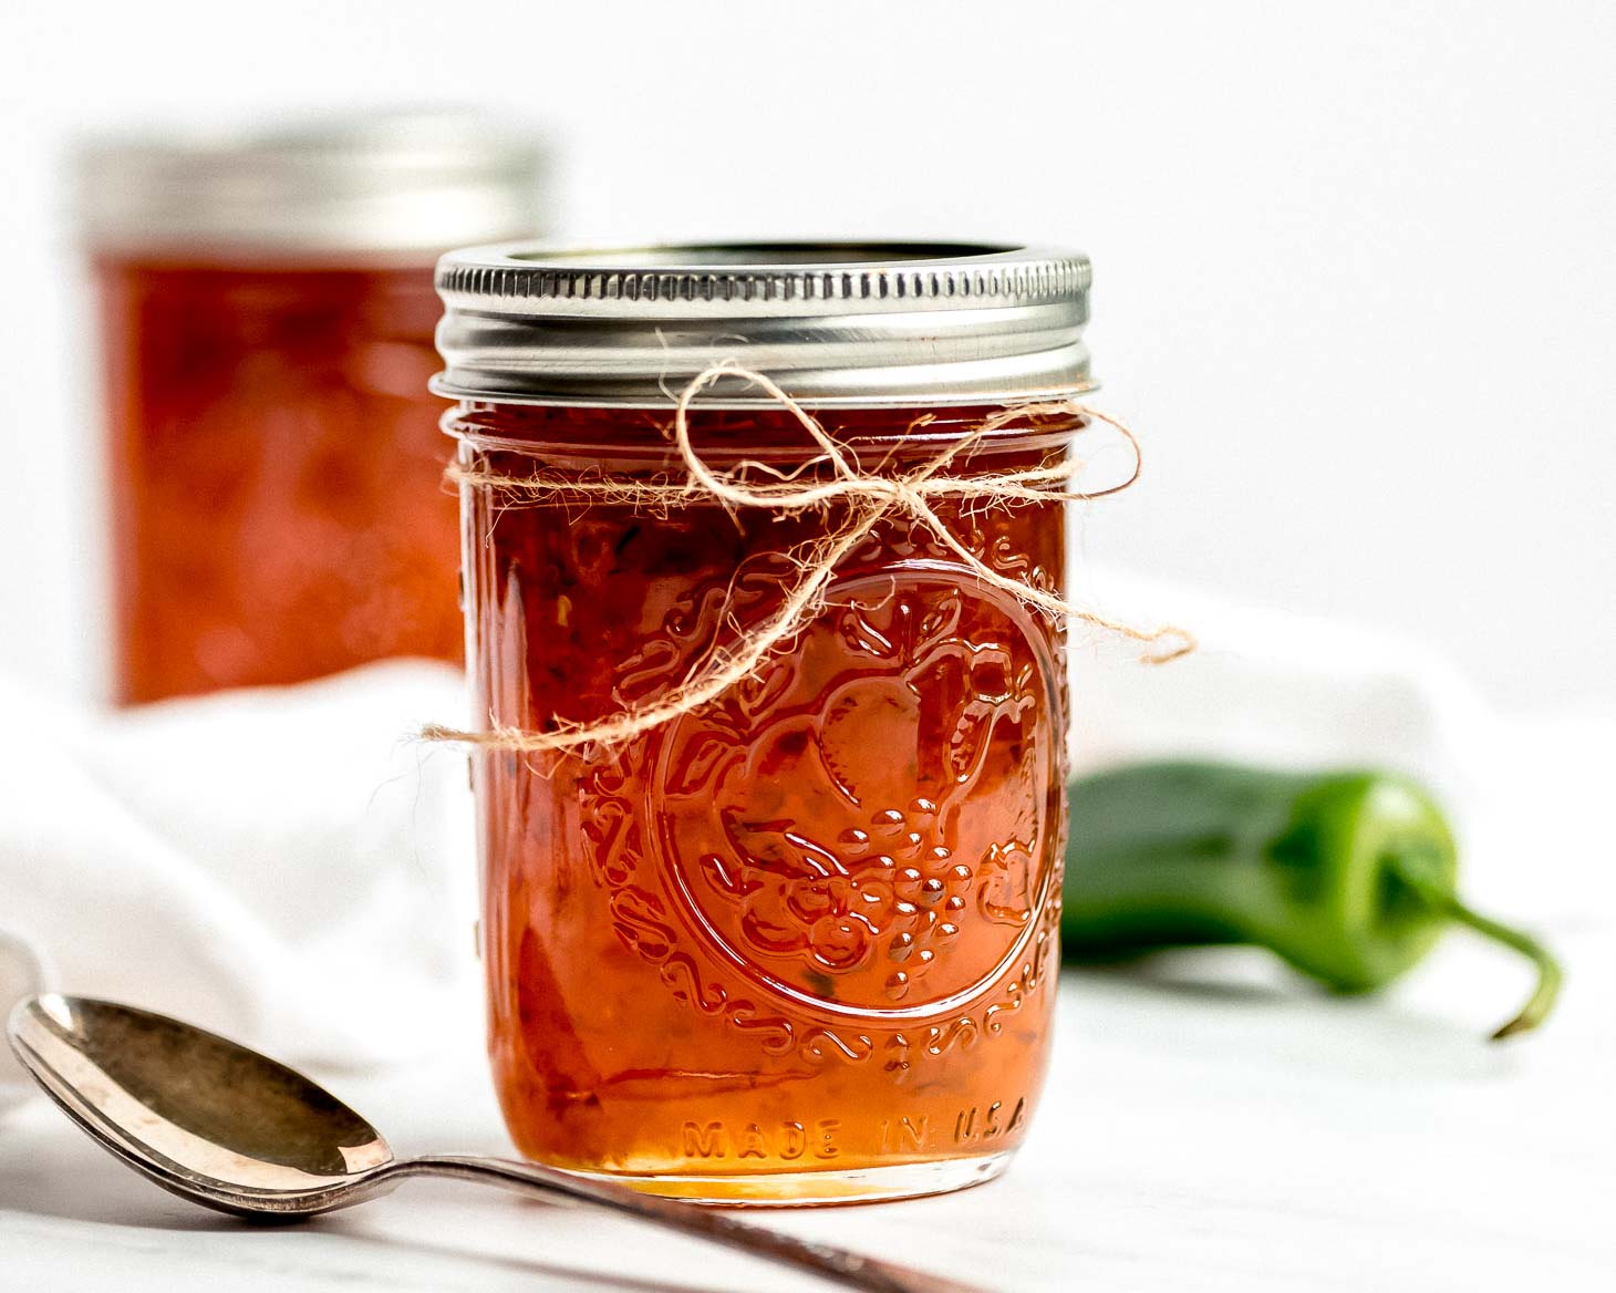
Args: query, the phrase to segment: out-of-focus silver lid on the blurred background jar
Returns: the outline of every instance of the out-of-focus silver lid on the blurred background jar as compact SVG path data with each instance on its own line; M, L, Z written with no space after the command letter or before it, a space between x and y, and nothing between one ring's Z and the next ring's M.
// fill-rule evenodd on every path
M473 112L107 136L74 160L97 251L436 257L546 225L543 144Z

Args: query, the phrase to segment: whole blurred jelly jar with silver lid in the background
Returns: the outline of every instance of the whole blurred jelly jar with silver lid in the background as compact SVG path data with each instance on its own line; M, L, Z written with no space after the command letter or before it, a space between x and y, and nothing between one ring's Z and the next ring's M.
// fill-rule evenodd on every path
M81 150L118 701L461 658L431 268L532 233L543 163L461 113Z

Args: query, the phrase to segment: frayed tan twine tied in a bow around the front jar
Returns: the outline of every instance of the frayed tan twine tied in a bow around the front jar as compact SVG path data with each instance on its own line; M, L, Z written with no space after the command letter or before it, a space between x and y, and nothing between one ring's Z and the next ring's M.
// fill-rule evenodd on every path
M734 470L714 470L696 451L690 435L690 406L696 396L721 378L742 378L761 388L787 409L819 446L819 457L793 472L781 472L760 462L742 464ZM1092 493L1062 488L1078 470L1078 464L1055 464L1025 470L942 475L960 454L979 443L986 435L1026 419L1049 415L1078 415L1086 425L1102 422L1118 432L1134 454L1133 472L1118 485ZM545 477L507 477L494 472L465 470L457 465L449 475L462 483L507 488L535 498L579 498L595 503L619 503L651 509L688 506L695 501L718 501L730 509L768 508L789 516L840 504L847 520L821 538L808 543L793 556L802 571L779 608L761 624L745 630L734 643L709 651L698 671L672 690L643 705L632 705L600 722L559 722L554 731L533 732L522 727L494 726L482 732L462 732L451 727L427 727L428 740L454 740L496 750L524 753L566 752L580 747L611 747L643 735L654 727L698 710L716 700L737 684L753 677L763 663L802 632L823 609L826 593L835 579L844 558L853 553L871 532L894 516L908 516L929 530L939 543L952 551L960 562L983 583L1000 588L1033 609L1063 621L1079 621L1096 629L1117 634L1143 643L1139 659L1144 664L1165 664L1196 648L1196 638L1176 625L1139 629L1120 619L1102 616L1084 606L1039 588L1028 580L1000 574L987 566L949 529L937 516L934 501L949 498L981 499L984 503L1086 503L1107 495L1122 493L1139 478L1141 456L1134 433L1117 417L1092 409L1073 399L1054 399L1031 404L1015 404L999 409L968 433L952 441L939 454L920 467L890 475L866 475L848 459L847 453L819 425L802 404L792 399L779 385L763 373L740 367L735 360L722 360L703 369L679 393L674 406L674 446L685 467L684 482L640 482L621 478L558 480ZM816 464L831 469L831 480L802 480L802 474ZM745 470L764 472L769 482L755 483L745 478Z

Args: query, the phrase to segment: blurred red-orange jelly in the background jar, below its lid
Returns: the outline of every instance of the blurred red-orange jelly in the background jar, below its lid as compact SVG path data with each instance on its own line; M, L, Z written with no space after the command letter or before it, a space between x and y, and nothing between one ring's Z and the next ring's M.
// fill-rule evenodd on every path
M461 658L425 263L102 255L115 693Z

